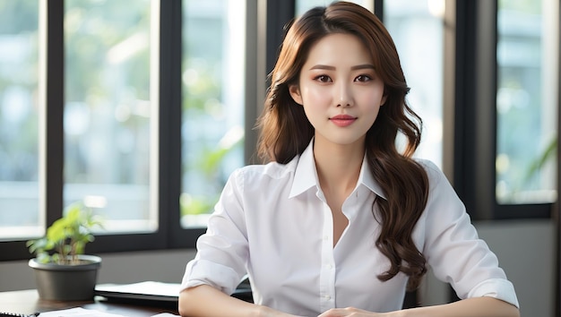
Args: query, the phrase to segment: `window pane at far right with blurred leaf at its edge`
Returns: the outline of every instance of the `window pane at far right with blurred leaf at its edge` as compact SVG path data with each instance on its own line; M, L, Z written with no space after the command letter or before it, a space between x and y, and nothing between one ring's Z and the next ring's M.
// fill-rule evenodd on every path
M496 201L501 204L557 200L554 1L498 2Z

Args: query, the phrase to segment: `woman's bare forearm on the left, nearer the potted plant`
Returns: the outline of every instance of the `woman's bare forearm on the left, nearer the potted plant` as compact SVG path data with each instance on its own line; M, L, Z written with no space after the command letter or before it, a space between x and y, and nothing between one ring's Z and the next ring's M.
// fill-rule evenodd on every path
M247 303L208 285L182 291L179 294L179 314L188 317L295 317L269 307Z

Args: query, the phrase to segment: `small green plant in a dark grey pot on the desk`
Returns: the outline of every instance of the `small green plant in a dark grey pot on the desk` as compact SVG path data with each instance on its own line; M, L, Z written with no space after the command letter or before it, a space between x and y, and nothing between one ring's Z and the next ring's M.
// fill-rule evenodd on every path
M91 300L101 258L84 254L94 240L93 227L101 220L82 201L69 205L62 218L47 228L47 235L27 242L29 265L35 272L39 297L47 300Z

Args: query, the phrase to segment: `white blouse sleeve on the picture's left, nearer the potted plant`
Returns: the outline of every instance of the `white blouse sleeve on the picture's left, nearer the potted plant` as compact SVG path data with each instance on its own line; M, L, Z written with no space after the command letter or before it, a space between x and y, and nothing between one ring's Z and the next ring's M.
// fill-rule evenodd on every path
M242 191L243 173L237 170L229 176L206 232L197 239L197 253L186 265L181 290L205 284L231 295L246 274L248 248Z

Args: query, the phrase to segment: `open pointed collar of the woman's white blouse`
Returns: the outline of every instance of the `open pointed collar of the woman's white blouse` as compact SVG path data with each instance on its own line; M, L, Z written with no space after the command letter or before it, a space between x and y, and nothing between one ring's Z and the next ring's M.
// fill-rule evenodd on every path
M364 159L362 159L357 187L361 184L366 186L371 192L386 199L380 184L378 184L372 176L370 166L367 164L366 154ZM306 150L304 150L304 152L302 152L302 154L298 157L298 163L294 172L294 181L292 183L292 187L290 188L289 198L298 196L300 193L304 193L312 187L317 189L320 188L317 178L317 170L315 169L314 138L312 138L306 147Z

